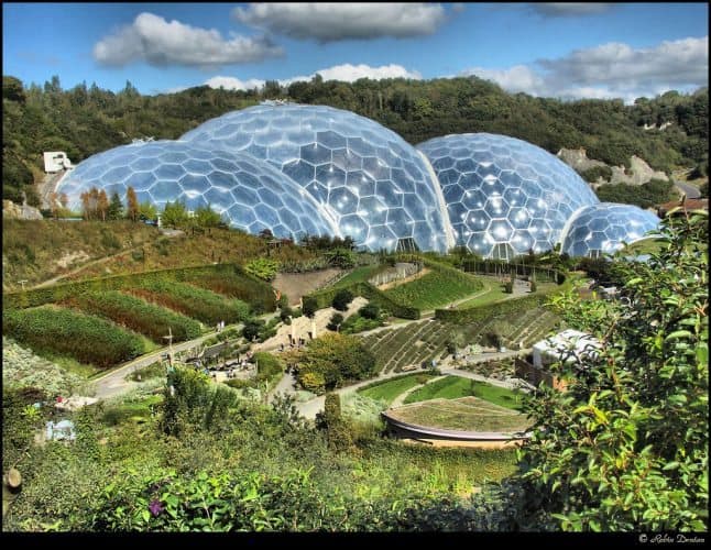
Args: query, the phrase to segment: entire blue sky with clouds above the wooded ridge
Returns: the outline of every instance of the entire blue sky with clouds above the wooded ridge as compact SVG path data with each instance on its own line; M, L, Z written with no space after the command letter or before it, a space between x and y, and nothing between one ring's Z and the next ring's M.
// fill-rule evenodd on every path
M2 73L144 95L475 75L560 99L708 86L700 3L12 3Z

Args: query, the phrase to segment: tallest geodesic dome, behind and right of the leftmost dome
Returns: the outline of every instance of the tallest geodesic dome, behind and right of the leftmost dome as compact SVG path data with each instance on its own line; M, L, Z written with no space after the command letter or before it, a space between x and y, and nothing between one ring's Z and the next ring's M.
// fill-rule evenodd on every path
M245 152L306 189L342 235L371 251L413 243L446 252L451 237L427 162L375 121L324 106L255 106L208 120L181 140Z

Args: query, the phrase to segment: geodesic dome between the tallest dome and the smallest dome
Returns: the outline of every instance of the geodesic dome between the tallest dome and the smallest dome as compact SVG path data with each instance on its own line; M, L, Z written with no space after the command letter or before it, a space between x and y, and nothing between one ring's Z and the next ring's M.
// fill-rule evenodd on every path
M550 250L598 197L567 164L515 138L452 134L417 145L442 189L458 244L484 257Z

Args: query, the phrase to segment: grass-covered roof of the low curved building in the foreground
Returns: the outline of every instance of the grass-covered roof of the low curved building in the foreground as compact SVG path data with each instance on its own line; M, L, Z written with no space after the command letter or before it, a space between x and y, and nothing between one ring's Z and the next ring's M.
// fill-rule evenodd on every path
M449 430L510 433L526 430L530 426L525 415L471 396L417 403L390 414L408 424Z

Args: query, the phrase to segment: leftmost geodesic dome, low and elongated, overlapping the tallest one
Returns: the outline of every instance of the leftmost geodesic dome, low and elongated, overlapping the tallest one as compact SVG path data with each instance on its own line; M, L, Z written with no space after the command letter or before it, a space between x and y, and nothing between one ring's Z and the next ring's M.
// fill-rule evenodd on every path
M188 210L210 206L230 226L250 233L270 229L281 238L338 235L332 220L298 185L247 154L205 150L174 141L134 143L81 162L62 179L69 208L91 187L125 204L129 187L139 202L163 207L179 200Z

